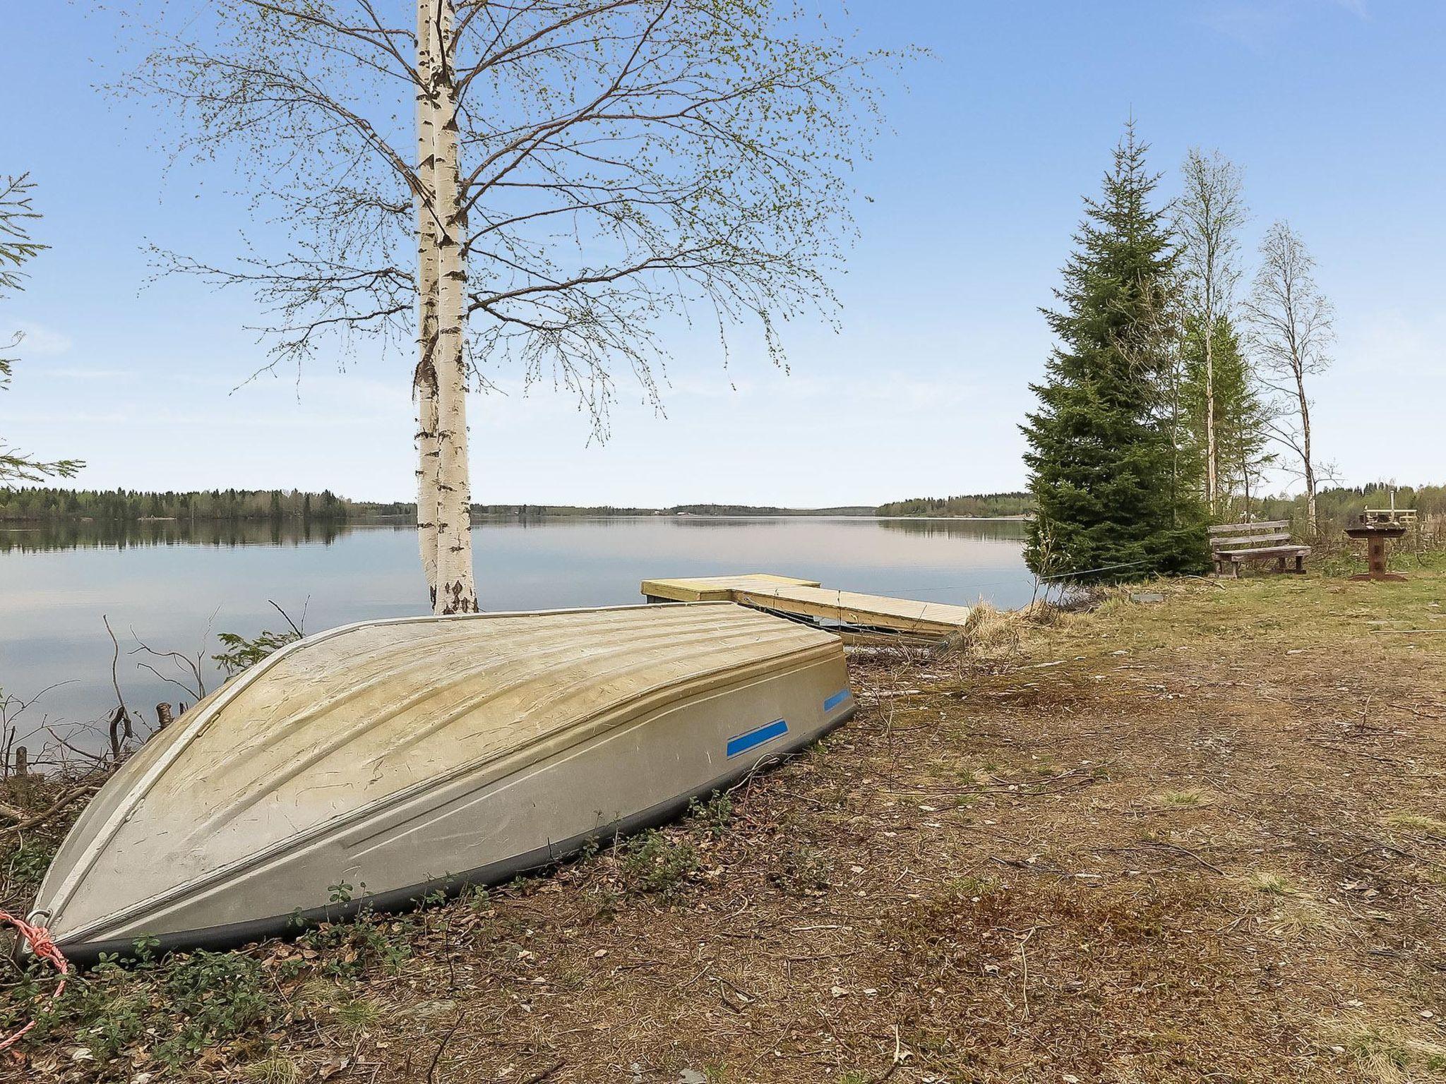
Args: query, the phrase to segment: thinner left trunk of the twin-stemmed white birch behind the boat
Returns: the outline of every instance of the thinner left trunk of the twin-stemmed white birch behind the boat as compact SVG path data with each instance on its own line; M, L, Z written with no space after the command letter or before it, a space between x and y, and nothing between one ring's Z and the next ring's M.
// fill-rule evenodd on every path
M431 103L435 55L434 0L416 3L416 535L431 604L437 606L437 217L435 116Z

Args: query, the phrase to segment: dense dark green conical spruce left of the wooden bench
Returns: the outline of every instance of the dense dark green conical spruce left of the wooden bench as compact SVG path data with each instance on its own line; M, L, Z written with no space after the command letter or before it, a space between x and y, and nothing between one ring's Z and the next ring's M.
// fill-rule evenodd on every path
M1057 345L1022 426L1037 507L1025 556L1040 575L1206 567L1205 509L1173 438L1177 249L1145 150L1129 123L1102 195L1084 199L1060 308L1044 314Z

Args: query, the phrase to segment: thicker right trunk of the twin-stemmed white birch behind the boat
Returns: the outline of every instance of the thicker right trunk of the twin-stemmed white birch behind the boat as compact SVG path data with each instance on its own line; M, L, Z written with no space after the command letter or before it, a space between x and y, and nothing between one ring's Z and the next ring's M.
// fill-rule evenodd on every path
M467 369L463 356L467 270L461 243L467 217L460 199L457 100L453 69L455 12L438 3L435 110L437 214L441 220L437 334L437 601L438 614L474 613L471 486L467 461Z

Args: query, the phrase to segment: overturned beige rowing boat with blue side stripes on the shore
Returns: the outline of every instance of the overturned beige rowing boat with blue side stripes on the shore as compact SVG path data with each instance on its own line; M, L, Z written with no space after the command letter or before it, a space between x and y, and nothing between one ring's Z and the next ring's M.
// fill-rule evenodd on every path
M32 921L85 963L405 908L664 821L853 707L837 637L733 603L344 626L127 760Z

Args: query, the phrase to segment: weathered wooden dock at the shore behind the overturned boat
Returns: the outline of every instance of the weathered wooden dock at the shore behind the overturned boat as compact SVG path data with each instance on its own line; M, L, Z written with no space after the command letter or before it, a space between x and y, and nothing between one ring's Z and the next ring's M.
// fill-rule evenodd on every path
M642 593L651 603L740 603L837 632L853 643L949 640L963 633L972 613L967 606L839 591L817 580L765 572L643 580Z

